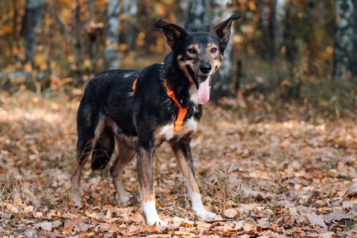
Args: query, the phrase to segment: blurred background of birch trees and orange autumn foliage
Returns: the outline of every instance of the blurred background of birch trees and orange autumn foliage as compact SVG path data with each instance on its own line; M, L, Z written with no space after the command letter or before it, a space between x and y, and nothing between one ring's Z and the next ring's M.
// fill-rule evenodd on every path
M244 97L332 111L343 102L356 110L353 0L3 1L0 87L71 94L104 69L161 62L169 47L153 27L159 18L209 31L232 13L242 18L232 29L216 100L240 88Z

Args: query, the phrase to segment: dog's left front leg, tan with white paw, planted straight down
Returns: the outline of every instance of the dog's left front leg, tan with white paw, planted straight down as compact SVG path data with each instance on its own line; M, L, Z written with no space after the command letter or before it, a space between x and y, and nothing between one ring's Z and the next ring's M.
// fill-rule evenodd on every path
M146 146L145 146L146 145ZM155 208L155 193L153 184L153 147L152 143L137 142L137 169L140 183L141 209L143 209L148 226L167 225L162 221Z

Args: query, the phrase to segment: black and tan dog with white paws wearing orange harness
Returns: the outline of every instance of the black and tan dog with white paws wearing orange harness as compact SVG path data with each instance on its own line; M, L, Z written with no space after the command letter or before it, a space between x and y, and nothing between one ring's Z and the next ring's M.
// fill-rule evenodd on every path
M200 218L215 218L202 204L190 141L202 116L202 104L209 101L232 21L239 18L233 14L210 33L186 32L179 25L158 20L154 25L162 29L172 49L162 64L142 71L106 70L87 83L78 108L77 161L71 176L70 197L77 207L83 207L80 175L85 163L92 155L92 169L106 167L117 141L118 155L110 173L120 201L129 200L122 174L136 154L146 223L167 225L156 211L153 188L153 154L167 141L186 181L193 211Z

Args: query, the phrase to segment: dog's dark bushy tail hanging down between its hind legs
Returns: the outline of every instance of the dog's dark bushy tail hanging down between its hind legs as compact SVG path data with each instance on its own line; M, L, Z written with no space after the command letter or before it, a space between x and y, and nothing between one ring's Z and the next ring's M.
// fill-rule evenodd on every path
M113 132L109 128L104 128L92 152L92 162L90 162L92 169L104 169L113 155L114 148Z

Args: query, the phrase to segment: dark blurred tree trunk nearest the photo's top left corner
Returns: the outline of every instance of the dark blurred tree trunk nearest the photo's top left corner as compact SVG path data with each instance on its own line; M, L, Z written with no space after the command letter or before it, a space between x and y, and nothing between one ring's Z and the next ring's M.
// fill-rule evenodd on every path
M34 64L34 55L36 51L37 31L41 27L44 0L27 0L25 6L25 15L22 21L22 36L24 37L25 61Z

